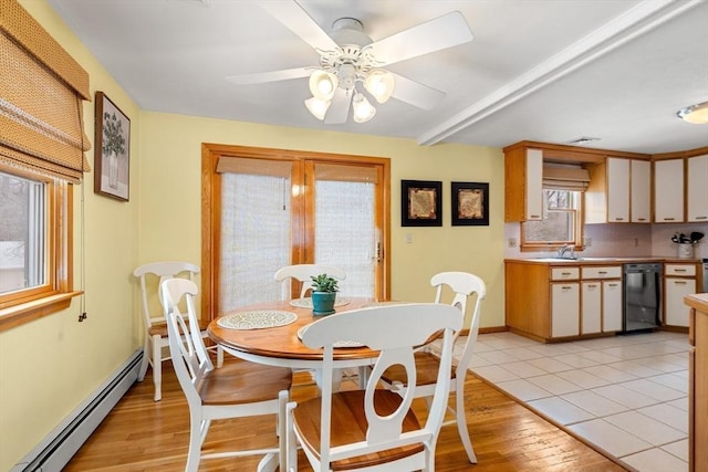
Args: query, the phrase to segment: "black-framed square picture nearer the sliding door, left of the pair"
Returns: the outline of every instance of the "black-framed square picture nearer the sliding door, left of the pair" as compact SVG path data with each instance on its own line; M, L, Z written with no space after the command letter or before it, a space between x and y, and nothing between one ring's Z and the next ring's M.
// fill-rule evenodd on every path
M442 225L442 182L430 180L400 181L400 225Z

